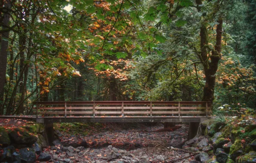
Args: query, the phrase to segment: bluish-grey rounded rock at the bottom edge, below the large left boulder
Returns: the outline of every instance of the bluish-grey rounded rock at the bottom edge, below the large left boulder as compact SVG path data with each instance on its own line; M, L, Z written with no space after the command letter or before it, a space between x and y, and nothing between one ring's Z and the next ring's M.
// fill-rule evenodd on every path
M36 161L36 153L33 148L21 148L19 154L21 161L26 163L34 163Z

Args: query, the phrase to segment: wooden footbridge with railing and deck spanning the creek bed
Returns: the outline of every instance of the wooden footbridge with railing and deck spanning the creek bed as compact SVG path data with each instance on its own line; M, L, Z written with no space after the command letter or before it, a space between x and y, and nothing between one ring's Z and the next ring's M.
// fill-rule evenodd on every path
M82 101L36 102L39 123L50 122L200 122L209 102Z

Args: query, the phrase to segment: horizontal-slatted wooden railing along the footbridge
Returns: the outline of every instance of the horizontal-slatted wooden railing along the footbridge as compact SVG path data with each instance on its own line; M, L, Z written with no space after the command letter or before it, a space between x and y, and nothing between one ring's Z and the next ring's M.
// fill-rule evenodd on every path
M188 117L208 116L210 103L197 101L35 102L37 117Z

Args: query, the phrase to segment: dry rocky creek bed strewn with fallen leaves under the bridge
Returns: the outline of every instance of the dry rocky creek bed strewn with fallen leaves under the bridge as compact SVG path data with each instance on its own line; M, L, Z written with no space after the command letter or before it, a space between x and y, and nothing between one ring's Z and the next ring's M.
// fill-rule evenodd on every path
M186 124L173 132L155 132L162 129L163 124L104 124L103 127L92 130L88 135L72 135L65 132L63 124L58 126L62 129L61 132L57 131L62 145L68 146L68 144L85 140L87 147L69 146L63 150L57 142L55 147L45 149L52 155L54 161L164 163L189 156L189 153L172 148L181 148L186 141L188 135ZM67 125L65 127L70 129ZM189 160L192 158L187 157L176 163L189 163Z

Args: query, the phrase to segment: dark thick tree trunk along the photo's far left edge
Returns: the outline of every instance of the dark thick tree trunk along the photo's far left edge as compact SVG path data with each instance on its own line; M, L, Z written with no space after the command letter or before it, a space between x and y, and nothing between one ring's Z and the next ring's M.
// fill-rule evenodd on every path
M4 6L7 9L11 9L10 0L6 0ZM2 24L9 26L10 21L10 13L9 10L3 14ZM6 29L6 27L2 27ZM7 49L8 49L8 41L5 39L9 38L9 32L2 34L1 39L1 53L0 53L0 115L3 115L3 96L4 96L4 85L6 83L6 66L7 66Z

